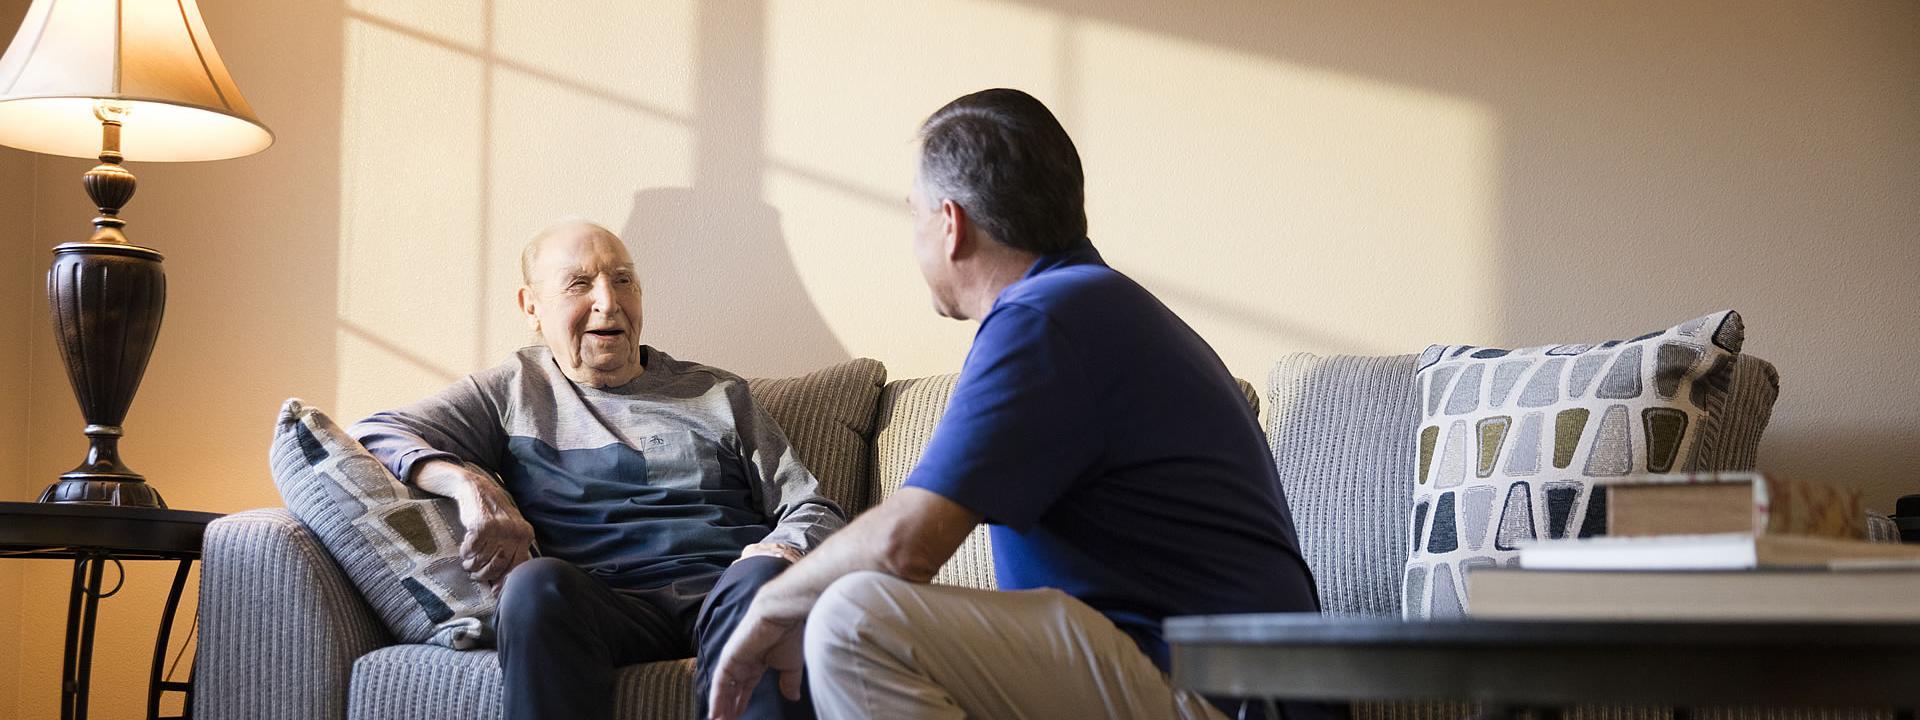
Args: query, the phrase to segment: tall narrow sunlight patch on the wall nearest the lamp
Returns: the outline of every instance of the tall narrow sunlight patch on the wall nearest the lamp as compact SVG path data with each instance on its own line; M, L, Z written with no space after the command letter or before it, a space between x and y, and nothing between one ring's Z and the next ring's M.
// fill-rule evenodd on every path
M447 319L470 313L480 280L482 63L374 23L344 33L340 407L328 411L359 417L472 365L478 326Z

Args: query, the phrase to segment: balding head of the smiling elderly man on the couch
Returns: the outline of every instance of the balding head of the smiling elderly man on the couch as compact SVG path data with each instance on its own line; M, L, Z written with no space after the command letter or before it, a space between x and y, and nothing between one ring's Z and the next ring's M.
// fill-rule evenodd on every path
M530 271L520 311L568 378L612 388L639 376L639 278L618 238L563 228L541 240Z

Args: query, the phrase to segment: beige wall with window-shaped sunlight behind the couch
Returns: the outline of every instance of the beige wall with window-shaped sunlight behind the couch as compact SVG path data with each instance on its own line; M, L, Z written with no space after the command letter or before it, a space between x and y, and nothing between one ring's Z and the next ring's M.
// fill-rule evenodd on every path
M202 10L278 142L134 167L131 234L173 292L125 455L175 507L276 505L286 396L357 417L522 344L513 255L561 215L628 236L647 340L682 357L956 369L972 326L927 311L900 198L916 123L995 84L1058 111L1094 240L1240 376L1738 307L1784 374L1764 467L1884 511L1920 492L1910 2ZM38 163L29 265L84 232L84 167ZM83 442L38 313L25 445L48 478ZM48 716L63 578L27 574L17 707ZM150 632L165 570L131 584L106 637ZM109 645L100 710L132 714L150 645Z

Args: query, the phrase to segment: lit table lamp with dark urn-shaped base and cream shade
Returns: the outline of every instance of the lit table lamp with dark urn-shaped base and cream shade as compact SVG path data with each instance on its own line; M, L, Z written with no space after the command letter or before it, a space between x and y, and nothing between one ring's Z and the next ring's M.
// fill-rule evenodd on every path
M100 207L94 232L54 248L46 273L86 461L40 501L167 507L119 459L121 422L167 305L161 255L121 230L134 190L121 161L252 156L273 132L240 98L194 0L35 0L0 56L0 144L100 157L84 177Z

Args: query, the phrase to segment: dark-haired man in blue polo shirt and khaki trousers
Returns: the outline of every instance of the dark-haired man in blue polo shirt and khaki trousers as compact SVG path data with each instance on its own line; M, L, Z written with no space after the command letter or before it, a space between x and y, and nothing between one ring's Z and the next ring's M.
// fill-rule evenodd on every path
M1173 614L1315 611L1260 424L1213 349L1087 240L1079 154L1018 90L941 108L908 205L941 315L977 319L906 488L768 582L712 714L806 670L826 718L1213 718ZM993 526L1004 591L929 586Z

